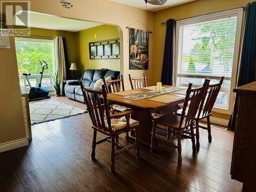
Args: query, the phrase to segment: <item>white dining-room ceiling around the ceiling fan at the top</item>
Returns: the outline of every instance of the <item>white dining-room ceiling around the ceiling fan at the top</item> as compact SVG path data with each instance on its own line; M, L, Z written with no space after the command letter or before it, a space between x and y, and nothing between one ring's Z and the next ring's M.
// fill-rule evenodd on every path
M154 12L154 11L159 11L159 10L166 9L166 8L169 8L169 7L174 7L174 6L177 6L177 5L185 4L185 3L188 3L188 2L193 2L193 1L196 1L196 0L167 0L167 2L162 6L151 5L149 3L147 3L147 5L145 5L144 0L109 0L109 1L124 4L124 5L129 5L129 6L132 6L132 7L137 7L137 8L140 8L140 9L146 9L148 11L153 11Z

